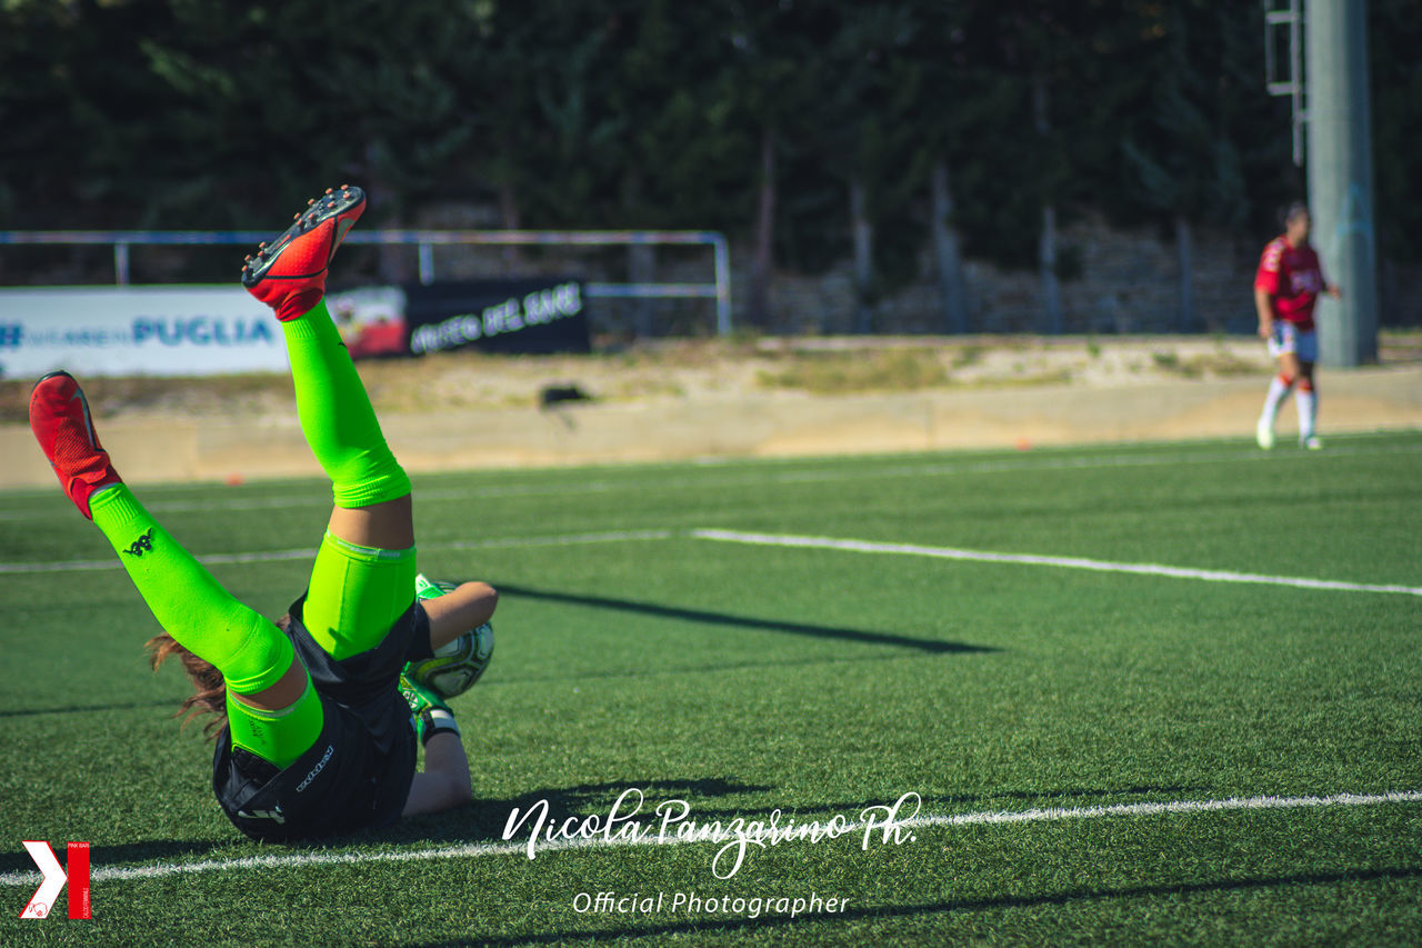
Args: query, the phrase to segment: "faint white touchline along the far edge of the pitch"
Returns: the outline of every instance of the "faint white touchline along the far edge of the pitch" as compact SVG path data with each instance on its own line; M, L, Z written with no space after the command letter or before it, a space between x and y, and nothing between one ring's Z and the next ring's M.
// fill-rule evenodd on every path
M899 477L944 477L954 474L1007 474L1014 471L1076 471L1113 467L1180 467L1185 464L1221 464L1231 461L1307 461L1315 464L1327 458L1340 457L1381 457L1388 454L1418 454L1422 444L1399 444L1392 447L1337 447L1321 454L1317 451L1260 451L1256 448L1239 451L1210 451L1185 454L1111 454L1096 457L1049 457L1044 454L1024 454L1020 458L998 458L984 461L947 461L931 464L897 464L893 467L879 467L872 460L859 461L838 458L842 465L828 470L755 470L745 474L731 475L694 475L683 474L663 475L648 474L644 470L631 468L626 474L606 477L603 480L582 480L567 484L516 484L502 487L476 487L469 490L435 488L415 490L417 501L476 501L501 497L572 497L579 494L606 494L610 491L641 491L641 490L691 490L718 487L762 487L765 484L815 484L835 481L863 481L875 478ZM734 463L734 461L732 461ZM795 461L785 461L793 464ZM765 463L762 463L765 464ZM710 465L708 465L710 468ZM331 505L328 494L290 494L277 497L247 497L226 500L222 497L222 487L212 487L203 497L192 500L152 501L145 504L154 514L172 512L220 512L245 510L280 510ZM0 522L21 520L47 520L54 515L51 510L13 510L0 511Z

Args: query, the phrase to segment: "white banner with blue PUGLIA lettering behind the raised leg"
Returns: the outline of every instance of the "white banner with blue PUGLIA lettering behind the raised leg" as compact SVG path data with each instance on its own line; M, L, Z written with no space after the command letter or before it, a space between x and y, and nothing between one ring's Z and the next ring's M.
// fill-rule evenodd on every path
M286 372L282 327L240 286L0 289L0 376Z

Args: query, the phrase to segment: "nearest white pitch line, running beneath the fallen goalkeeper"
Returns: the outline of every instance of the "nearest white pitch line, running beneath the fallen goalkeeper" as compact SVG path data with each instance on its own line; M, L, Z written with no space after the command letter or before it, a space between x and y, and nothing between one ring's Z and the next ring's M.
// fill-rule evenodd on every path
M1251 810L1298 810L1314 807L1357 807L1378 806L1384 803L1422 803L1422 790L1395 793L1335 793L1330 796L1305 797L1229 797L1224 800L1175 800L1167 803L1118 803L1102 807L1062 807L1062 809L1034 809L1034 810L983 810L977 813L953 813L939 816L921 816L899 820L896 826L907 830L930 827L956 826L995 826L1012 823L1059 823L1065 820L1091 820L1101 817L1150 817L1150 816L1180 816L1193 813L1231 813ZM866 807L870 804L866 804ZM808 820L805 820L808 821ZM863 833L863 821L849 821L849 833ZM586 850L599 847L633 847L633 846L685 846L691 843L707 843L694 838L644 838L624 837L593 837L559 840L556 843L540 843L539 853L553 853L560 850ZM722 843L712 841L710 846ZM90 878L94 883L129 881L148 878L166 878L171 875L192 875L199 873L219 873L252 868L306 868L313 865L358 865L368 863L419 863L429 860L454 858L483 858L491 855L526 855L528 838L509 843L471 843L468 846L451 846L424 850L402 850L387 853L293 853L287 855L252 855L236 860L205 860L201 863L154 863L149 865L117 865L94 867ZM37 885L38 873L3 873L0 885Z

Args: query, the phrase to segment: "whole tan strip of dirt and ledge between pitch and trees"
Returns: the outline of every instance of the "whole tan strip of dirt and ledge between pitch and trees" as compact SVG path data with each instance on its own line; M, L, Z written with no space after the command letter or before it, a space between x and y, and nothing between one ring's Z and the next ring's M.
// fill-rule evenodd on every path
M1325 433L1422 427L1422 333L1385 336L1382 360L1321 373ZM360 364L411 470L1251 438L1273 369L1257 340L1193 336L694 340ZM26 423L30 384L0 381L0 485L53 478ZM286 376L84 386L131 480L319 473Z

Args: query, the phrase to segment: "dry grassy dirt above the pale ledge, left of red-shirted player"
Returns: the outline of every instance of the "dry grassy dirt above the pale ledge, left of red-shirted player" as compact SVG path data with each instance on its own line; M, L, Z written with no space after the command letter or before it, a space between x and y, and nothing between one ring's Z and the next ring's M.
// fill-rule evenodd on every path
M442 353L360 363L381 413L525 409L552 389L602 403L799 391L846 396L1045 384L1128 386L1267 373L1250 339L764 339L650 343L594 356ZM0 421L26 420L28 379L0 380ZM284 376L84 379L97 417L287 414Z

